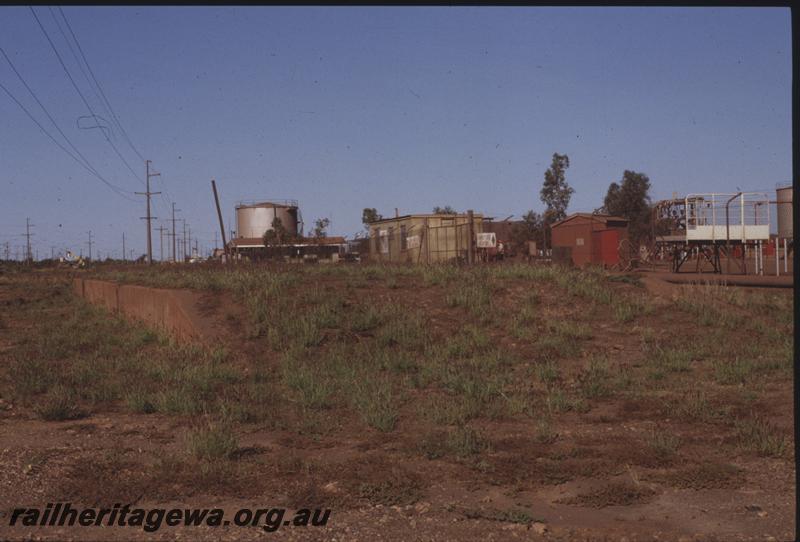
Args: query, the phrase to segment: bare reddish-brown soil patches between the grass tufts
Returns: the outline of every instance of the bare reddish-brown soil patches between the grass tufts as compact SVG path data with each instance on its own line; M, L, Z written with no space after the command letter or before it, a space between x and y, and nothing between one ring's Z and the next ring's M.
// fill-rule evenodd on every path
M48 296L52 283L66 284L62 271L0 275L0 538L9 540L789 540L794 537L795 487L792 449L791 373L754 379L747 385L714 382L713 360L692 361L686 377L706 386L722 418L687 419L676 404L685 380L588 400L585 411L553 415L539 407L527 415L476 417L470 427L487 445L468 457L435 453L450 427L432 424L420 404L441 393L409 388L388 432L365 425L341 404L308 419L276 395L275 416L238 423L237 450L214 468L184 460L187 431L197 416L131 412L121 400L84 405L85 415L45 421L35 401L14 392L12 358L22 338L40 333L43 321L68 318L69 293ZM409 277L399 286L371 282L351 288L337 277L317 277L317 286L353 303L401 303L424 312L440 340L453 336L467 318L448 306L442 287L421 287ZM50 285L50 286L47 286ZM615 321L607 309L555 288L509 279L494 293L499 313L535 288L539 317L586 322L592 337L579 355L560 359L560 382L572 391L581 367L597 353L613 367L644 374L639 330L648 328L664 344L682 344L698 325L675 309L672 286L649 289L612 283L646 296L654 310L633 323ZM65 291L68 288L65 286ZM634 295L634 294L631 294ZM780 294L778 294L780 295ZM785 292L791 295L791 292ZM355 296L355 297L354 297ZM349 301L349 302L350 302ZM229 363L244 375L255 367L280 379L280 352L247 331L247 310L228 292L197 292L195 308L215 334L223 334ZM729 307L731 313L740 310ZM504 316L505 317L505 316ZM771 321L770 321L771 322ZM772 325L772 324L770 324ZM492 343L523 360L508 370L534 401L544 400L527 360L535 343L513 337L505 326L487 326ZM326 333L331 333L326 331ZM741 335L726 331L727 340ZM353 341L367 340L368 334ZM87 353L89 354L89 353ZM533 361L531 362L533 363ZM616 369L615 369L616 370ZM674 378L678 378L677 376ZM680 376L684 378L684 376ZM530 381L531 384L527 384ZM643 380L642 382L646 382ZM679 385L680 384L680 385ZM638 384L637 384L638 385ZM746 397L746 392L751 396ZM536 403L537 405L539 403ZM741 446L735 421L753 412L766 417L788 442L782 456L764 456ZM551 434L542 435L547 418ZM674 453L648 446L654 433L679 438ZM325 507L328 525L286 527L136 528L9 527L12 509L69 501L73 506L114 503L141 508Z

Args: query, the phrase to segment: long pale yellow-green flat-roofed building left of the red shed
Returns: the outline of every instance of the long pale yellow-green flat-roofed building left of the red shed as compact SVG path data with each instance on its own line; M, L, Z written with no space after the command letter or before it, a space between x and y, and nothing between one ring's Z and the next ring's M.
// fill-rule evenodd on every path
M435 263L468 261L483 215L410 214L369 225L371 261ZM473 252L474 255L474 252Z

